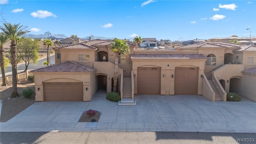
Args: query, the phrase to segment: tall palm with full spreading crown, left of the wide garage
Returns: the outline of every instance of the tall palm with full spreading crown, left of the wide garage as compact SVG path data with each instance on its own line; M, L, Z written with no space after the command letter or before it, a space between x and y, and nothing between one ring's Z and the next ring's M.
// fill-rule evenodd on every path
M0 29L4 34L11 40L10 52L11 52L11 64L12 64L12 98L16 98L19 96L17 91L17 40L19 36L30 32L29 30L25 30L28 26L23 26L19 24L11 24L5 22L1 26Z

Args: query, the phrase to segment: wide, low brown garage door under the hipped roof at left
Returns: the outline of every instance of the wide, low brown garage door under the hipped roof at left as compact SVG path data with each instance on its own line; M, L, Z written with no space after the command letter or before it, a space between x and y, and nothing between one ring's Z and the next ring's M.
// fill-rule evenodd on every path
M44 82L44 101L83 101L82 82Z

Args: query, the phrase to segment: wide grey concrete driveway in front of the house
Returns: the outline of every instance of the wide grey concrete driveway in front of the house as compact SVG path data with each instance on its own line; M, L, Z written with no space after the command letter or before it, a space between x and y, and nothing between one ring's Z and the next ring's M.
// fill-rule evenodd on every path
M2 122L1 132L169 131L256 132L256 103L211 102L203 96L136 95L136 106L118 106L98 91L91 102L36 102ZM98 110L99 122L78 122L85 110Z

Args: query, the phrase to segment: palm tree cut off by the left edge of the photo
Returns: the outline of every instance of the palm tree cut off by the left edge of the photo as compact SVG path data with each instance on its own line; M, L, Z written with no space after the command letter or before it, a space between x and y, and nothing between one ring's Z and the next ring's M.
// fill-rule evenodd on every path
M8 41L8 37L0 33L0 67L2 71L2 86L7 86L5 79L5 68L4 68L4 44Z

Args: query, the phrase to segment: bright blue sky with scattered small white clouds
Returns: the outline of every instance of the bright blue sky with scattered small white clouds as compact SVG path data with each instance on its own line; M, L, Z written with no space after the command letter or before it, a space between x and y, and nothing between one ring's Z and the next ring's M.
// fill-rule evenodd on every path
M255 0L0 0L30 34L175 40L256 36ZM3 5L6 3L6 5ZM1 17L1 25L3 19Z

